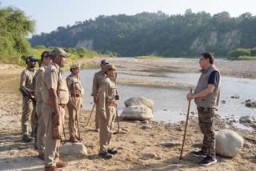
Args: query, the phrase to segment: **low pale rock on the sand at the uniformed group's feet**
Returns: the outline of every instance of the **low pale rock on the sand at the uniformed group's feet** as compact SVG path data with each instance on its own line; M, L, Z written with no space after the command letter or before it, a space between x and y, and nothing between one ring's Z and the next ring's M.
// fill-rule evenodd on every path
M85 154L87 155L86 146L81 142L77 143L66 143L60 147L60 153L62 154Z

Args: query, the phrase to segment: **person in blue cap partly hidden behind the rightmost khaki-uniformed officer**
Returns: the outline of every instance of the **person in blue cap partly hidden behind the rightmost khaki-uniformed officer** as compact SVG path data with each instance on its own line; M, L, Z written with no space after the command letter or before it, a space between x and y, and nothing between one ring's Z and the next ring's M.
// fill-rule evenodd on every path
M108 64L106 59L103 59L101 62L101 68ZM98 89L102 86L102 82L106 78L105 73L103 73L102 70L98 71L97 73L94 74L94 81L93 81L93 88L92 88L92 93L91 96L94 97L94 103L96 104L96 113L95 113L95 131L99 131L99 116L98 116L98 103L96 100Z

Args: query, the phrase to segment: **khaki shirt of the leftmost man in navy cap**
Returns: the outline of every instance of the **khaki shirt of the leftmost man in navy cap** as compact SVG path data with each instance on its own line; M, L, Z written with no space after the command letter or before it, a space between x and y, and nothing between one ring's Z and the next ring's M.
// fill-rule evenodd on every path
M25 88L29 91L29 92L34 92L34 88L33 88L33 77L35 75L37 70L34 69L30 69L30 68L26 68L25 70L22 71L21 74L21 80L20 80L20 85L19 87L25 86Z

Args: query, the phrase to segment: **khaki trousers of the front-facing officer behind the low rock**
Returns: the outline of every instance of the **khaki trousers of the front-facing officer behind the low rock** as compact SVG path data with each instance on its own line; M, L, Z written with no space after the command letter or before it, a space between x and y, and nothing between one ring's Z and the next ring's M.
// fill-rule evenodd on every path
M70 97L72 101L74 101L74 97ZM71 105L71 103L68 103L67 109L69 111L69 130L70 130L70 137L75 137L78 135L78 125L77 125L77 115L78 114L78 121L79 121L79 113L80 113L80 108L82 104L82 97L75 97L76 104L75 106L77 107L77 111L75 111ZM74 103L72 103L74 104Z

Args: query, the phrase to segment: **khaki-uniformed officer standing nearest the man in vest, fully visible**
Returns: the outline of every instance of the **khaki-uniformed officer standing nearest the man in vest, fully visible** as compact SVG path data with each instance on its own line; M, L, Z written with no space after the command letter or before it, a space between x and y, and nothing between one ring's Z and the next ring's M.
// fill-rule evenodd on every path
M103 72L106 74L101 92L98 97L98 114L100 117L99 130L99 154L101 157L110 159L112 155L118 153L116 149L110 149L110 140L114 129L114 120L117 112L118 89L115 83L114 65L106 64Z

